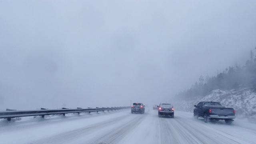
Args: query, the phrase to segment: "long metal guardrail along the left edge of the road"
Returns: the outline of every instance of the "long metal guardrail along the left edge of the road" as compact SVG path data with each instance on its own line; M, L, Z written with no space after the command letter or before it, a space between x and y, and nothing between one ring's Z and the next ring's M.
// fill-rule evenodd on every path
M0 118L6 118L8 121L11 120L11 118L17 118L17 117L24 117L24 116L42 116L44 118L45 115L52 115L52 114L68 114L68 113L80 113L80 112L99 112L99 111L105 111L105 110L121 110L125 108L130 108L130 106L123 106L123 107L108 107L108 108L77 108L77 109L44 109L41 108L41 110L8 110L6 111L0 111Z

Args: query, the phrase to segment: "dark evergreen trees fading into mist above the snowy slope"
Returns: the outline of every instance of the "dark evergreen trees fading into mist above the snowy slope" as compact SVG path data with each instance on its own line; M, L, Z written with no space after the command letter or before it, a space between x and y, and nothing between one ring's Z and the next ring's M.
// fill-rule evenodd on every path
M255 47L256 49L256 47ZM190 89L176 94L177 99L195 100L206 96L212 90L251 88L256 92L256 54L251 50L250 59L243 66L229 66L216 76L200 76Z

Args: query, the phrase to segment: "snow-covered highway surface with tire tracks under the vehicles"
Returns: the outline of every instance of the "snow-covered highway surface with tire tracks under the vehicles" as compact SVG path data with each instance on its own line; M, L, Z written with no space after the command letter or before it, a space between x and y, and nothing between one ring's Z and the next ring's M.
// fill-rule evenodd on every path
M150 107L151 108L151 107ZM158 118L130 109L0 121L0 144L256 144L256 124L236 119L231 125L194 120L190 112Z

